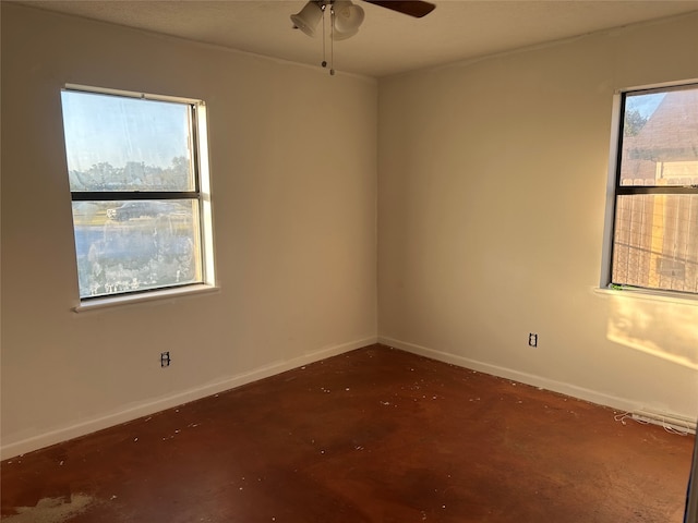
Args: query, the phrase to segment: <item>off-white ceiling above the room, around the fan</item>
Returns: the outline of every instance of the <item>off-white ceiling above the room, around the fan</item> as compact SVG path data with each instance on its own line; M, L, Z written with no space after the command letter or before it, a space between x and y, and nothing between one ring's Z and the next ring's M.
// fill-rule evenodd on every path
M431 1L436 9L413 19L354 0L365 20L358 35L334 44L334 69L380 77L698 11L696 0ZM19 3L293 62L323 60L322 33L311 38L289 19L305 0Z

